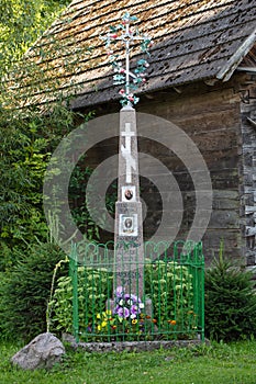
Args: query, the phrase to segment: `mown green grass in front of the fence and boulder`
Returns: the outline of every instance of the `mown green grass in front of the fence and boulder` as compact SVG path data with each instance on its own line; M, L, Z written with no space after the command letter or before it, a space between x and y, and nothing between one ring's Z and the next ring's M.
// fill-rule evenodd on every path
M1 384L255 384L256 341L160 350L88 353L67 350L51 371L13 368L19 345L0 343Z

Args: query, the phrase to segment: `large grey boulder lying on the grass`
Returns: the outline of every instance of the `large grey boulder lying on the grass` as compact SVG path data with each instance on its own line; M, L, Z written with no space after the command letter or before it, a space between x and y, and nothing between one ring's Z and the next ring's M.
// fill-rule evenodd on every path
M64 345L53 334L36 336L27 346L16 352L11 362L23 370L51 369L62 360Z

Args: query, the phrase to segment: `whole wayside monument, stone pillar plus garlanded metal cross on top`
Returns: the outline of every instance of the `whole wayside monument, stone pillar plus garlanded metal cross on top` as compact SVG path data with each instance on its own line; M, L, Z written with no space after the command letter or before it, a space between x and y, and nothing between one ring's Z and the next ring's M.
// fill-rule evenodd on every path
M131 71L130 54L135 43L141 50L147 53L152 41L148 36L140 36L138 31L133 32L130 23L136 21L135 16L125 13L121 24L110 27L111 32L105 39L108 56L114 69L114 84L124 84L119 93L122 97L120 111L120 143L119 143L119 174L118 201L115 203L114 230L114 292L118 290L126 294L144 297L144 244L143 244L143 215L140 201L140 178L137 158L136 113L133 104L138 102L134 91L143 84L148 64L138 59L136 68ZM111 45L119 43L124 46L125 68L114 55Z

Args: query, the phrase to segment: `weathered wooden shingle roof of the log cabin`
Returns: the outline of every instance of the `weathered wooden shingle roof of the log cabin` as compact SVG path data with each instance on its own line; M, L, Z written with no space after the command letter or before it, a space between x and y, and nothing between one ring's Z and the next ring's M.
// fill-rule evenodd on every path
M21 74L12 84L24 104L29 93L30 103L54 99L56 87L76 92L76 108L118 99L100 35L125 12L154 39L142 92L226 81L256 39L256 0L74 0L26 55L41 71L38 83Z

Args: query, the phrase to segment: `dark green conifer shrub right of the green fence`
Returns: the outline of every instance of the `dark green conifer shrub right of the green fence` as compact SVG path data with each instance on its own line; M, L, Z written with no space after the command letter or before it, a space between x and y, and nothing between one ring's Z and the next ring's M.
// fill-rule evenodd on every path
M218 341L256 335L252 274L221 256L205 272L205 335Z

